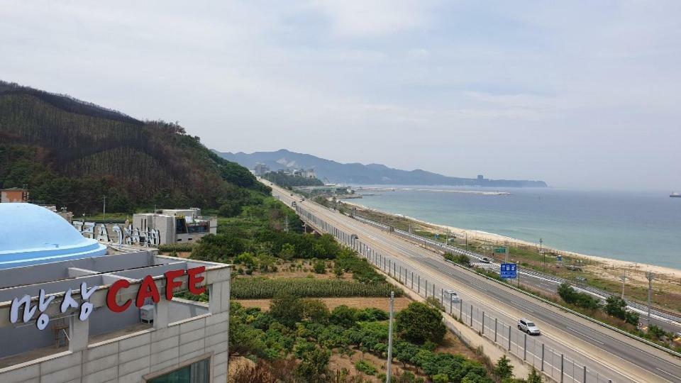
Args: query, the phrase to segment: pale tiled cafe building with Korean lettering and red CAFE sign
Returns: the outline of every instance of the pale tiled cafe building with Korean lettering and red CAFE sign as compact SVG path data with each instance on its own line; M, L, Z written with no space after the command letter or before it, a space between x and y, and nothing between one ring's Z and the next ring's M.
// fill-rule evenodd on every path
M60 241L87 238L40 209L40 216L0 210L13 222L0 226L0 238L41 229L23 248L0 240L0 262L44 248L46 238L64 250L0 268L0 382L226 382L230 265L155 250L93 256ZM46 214L58 221L34 221ZM177 296L204 289L207 303Z

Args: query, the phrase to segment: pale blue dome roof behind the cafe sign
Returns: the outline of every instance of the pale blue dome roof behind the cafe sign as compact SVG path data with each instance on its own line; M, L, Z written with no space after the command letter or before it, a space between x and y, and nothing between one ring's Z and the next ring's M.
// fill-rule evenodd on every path
M34 204L0 204L0 269L106 254L57 213Z

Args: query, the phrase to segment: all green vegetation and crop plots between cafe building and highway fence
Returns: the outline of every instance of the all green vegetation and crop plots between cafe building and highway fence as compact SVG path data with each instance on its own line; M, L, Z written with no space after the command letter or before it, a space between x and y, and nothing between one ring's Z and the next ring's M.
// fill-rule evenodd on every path
M265 197L237 216L218 218L218 233L191 248L193 259L233 264L230 353L238 367L231 381L384 381L387 312L345 305L329 310L321 299L387 301L389 292L402 291L331 235L301 228L288 206ZM238 299L271 301L260 309ZM445 336L441 312L428 304L398 311L394 331L395 382L495 380L493 366L465 346L465 355L438 351L451 335Z

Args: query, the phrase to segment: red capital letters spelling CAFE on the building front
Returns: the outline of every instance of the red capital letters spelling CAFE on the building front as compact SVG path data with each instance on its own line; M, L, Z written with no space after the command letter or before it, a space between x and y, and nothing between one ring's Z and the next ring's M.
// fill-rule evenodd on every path
M182 277L185 272L187 275L189 275L187 283L189 285L189 292L194 295L200 295L204 293L206 291L206 287L199 287L199 284L203 282L204 277L199 277L199 274L205 270L205 266L199 266L187 270L179 269L165 272L165 274L163 274L165 277L165 299L170 301L170 299L172 299L172 290L175 289L175 287L182 286L182 282L177 281L176 279ZM109 287L109 292L106 293L106 306L109 307L109 310L114 311L114 313L122 313L123 311L126 311L131 304L133 304L132 299L128 299L123 304L118 304L116 301L116 295L118 292L123 289L127 289L128 287L130 287L130 282L128 282L127 279L118 279L116 282L114 282L114 284L111 284L111 287ZM156 282L154 282L154 279L151 275L147 275L144 277L144 279L142 279L142 283L140 283L140 289L138 290L135 297L135 306L144 306L144 302L148 298L151 298L154 303L158 303L158 301L161 300L160 292L158 291Z

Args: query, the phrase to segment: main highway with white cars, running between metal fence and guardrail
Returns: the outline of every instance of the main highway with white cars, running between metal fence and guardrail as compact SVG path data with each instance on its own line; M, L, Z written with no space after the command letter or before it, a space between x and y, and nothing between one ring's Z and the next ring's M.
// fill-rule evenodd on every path
M359 250L370 262L383 270L386 266L388 270L392 267L392 274L397 274L405 287L411 288L416 279L418 286L414 286L414 291L431 291L426 294L441 298L443 291L454 289L462 298L457 316L465 323L470 321L478 331L485 328L488 337L492 333L495 339L499 336L511 340L509 345L510 348L515 346L516 355L521 353L527 360L531 357L531 362L537 365L536 360L539 355L544 355L543 350L550 350L551 360L548 357L544 359L546 365L550 365L550 376L554 378L557 365L571 362L572 372L564 372L563 377L575 382L584 382L585 376L587 382L681 382L681 361L663 351L490 282L450 264L435 252L380 228L309 201L300 202L299 197L291 196L289 191L265 183L289 206L297 201L299 215L318 231L332 229L342 242ZM358 235L358 240L351 238L350 233ZM451 303L448 311L457 314ZM514 328L521 317L536 321L543 335L525 340L524 333ZM499 328L502 335L497 334ZM499 340L497 344L505 344L506 340ZM563 363L556 362L556 355L559 359L560 355L565 357ZM582 368L583 375L579 370Z

